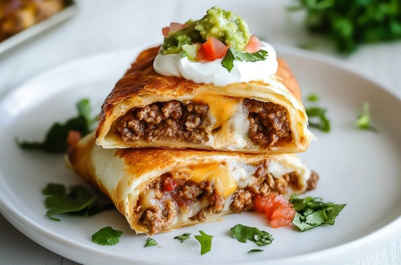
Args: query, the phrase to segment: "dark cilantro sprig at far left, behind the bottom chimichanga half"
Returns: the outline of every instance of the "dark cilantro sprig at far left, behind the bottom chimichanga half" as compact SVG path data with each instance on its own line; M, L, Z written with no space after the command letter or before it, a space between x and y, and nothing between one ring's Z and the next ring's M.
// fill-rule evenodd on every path
M77 103L78 116L68 119L65 123L54 123L46 133L43 142L21 141L17 138L17 144L23 149L37 149L46 152L65 152L68 148L67 137L70 130L76 130L85 136L92 131L92 125L96 121L91 117L89 99L82 99Z

